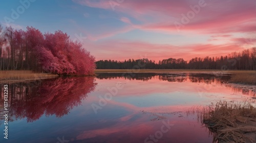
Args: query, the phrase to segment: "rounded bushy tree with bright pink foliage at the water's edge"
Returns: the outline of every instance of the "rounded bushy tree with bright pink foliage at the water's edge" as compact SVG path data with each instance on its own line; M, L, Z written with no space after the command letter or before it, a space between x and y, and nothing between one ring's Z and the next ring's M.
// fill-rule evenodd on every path
M82 45L61 31L46 33L44 46L38 46L38 64L45 72L55 74L93 74L95 59Z

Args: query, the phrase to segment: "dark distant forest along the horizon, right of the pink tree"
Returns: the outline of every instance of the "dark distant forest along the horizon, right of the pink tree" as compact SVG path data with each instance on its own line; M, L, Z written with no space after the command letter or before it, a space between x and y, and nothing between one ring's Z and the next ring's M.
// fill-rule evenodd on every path
M97 69L207 69L207 70L256 70L256 48L233 52L226 56L183 59L165 59L156 63L148 59L129 59L123 62L100 60Z

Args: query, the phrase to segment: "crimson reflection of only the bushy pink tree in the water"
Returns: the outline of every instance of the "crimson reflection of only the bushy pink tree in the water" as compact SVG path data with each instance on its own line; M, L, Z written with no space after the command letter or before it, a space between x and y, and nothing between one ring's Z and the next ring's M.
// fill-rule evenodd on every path
M16 118L27 118L28 122L46 116L67 115L74 106L81 104L87 94L94 91L94 77L57 78L42 81L39 87L28 91L26 101L18 100L12 105L12 113Z

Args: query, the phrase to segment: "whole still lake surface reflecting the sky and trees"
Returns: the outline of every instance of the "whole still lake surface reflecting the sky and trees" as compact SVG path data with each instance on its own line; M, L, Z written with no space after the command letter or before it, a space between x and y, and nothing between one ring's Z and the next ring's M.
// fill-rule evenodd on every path
M255 98L228 75L102 73L1 86L0 142L212 142L191 108ZM253 100L253 99L252 99Z

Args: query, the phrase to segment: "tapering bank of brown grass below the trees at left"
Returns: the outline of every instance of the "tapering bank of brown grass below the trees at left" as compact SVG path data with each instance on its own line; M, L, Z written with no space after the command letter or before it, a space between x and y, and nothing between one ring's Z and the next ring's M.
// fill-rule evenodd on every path
M58 75L35 73L33 71L0 71L0 82L54 78Z

